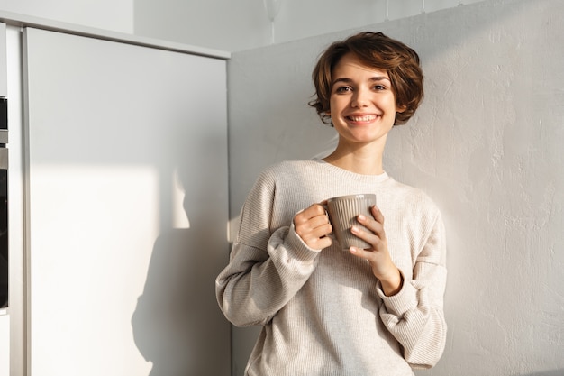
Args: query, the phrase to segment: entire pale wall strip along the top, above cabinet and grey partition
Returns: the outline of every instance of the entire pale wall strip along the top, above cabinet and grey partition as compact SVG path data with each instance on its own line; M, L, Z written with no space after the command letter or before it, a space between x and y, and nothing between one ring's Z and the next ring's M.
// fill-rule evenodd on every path
M237 51L482 0L278 0L274 29L265 1L273 0L0 0L0 10Z

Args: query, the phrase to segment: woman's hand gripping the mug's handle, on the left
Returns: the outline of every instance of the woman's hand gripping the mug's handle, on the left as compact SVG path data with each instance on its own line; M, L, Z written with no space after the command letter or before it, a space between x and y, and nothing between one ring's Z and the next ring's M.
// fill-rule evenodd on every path
M294 216L296 234L314 250L323 250L332 244L331 237L327 236L332 233L332 225L323 204L309 206Z

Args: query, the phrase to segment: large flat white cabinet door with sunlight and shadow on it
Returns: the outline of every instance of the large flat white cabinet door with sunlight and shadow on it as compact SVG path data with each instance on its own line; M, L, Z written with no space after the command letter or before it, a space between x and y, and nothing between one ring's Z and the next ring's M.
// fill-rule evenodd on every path
M228 375L225 61L24 32L33 376Z

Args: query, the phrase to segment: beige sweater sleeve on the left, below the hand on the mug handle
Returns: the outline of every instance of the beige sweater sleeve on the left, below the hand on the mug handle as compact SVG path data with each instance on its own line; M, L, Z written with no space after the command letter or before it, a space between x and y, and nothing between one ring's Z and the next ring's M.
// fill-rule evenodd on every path
M261 174L241 210L230 261L215 281L223 315L235 326L264 325L314 271L319 251L288 225L271 229L275 179Z

